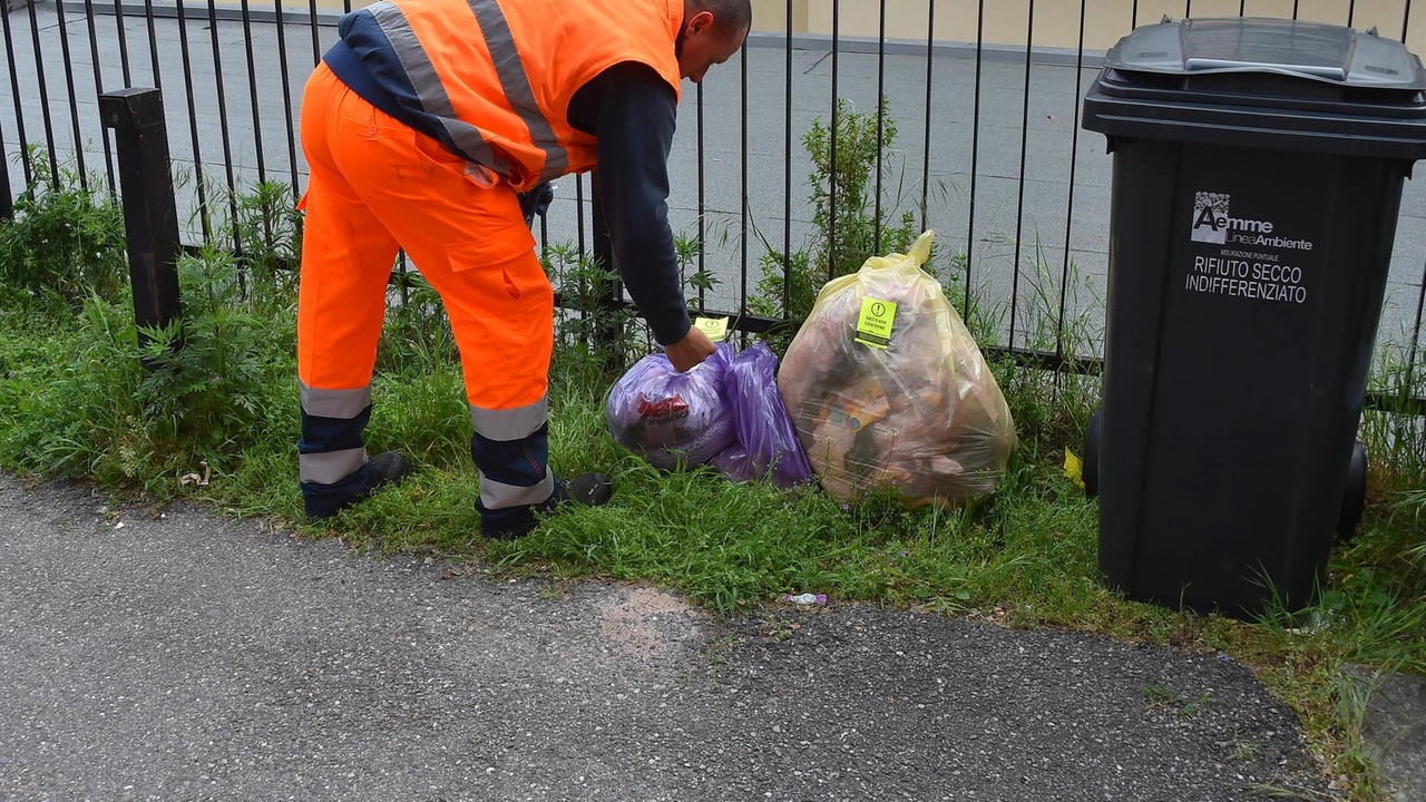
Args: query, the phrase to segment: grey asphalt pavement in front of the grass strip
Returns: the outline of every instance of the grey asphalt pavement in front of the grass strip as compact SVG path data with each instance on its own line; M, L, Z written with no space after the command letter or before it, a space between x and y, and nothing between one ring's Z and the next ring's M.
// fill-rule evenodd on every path
M0 477L7 799L1330 798L1214 655L838 604L724 625L104 507Z

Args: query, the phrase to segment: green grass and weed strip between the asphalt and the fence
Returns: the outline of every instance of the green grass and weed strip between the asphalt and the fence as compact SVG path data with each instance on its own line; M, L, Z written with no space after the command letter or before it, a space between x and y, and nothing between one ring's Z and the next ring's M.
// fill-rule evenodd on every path
M1362 534L1333 554L1315 615L1325 625L1243 624L1122 599L1097 572L1097 507L1062 471L1078 442L1091 381L997 365L1022 445L994 497L970 509L907 511L890 497L844 505L814 489L737 485L712 469L660 474L605 431L607 378L585 360L559 362L552 382L552 464L562 474L612 474L616 502L549 518L516 542L489 544L473 509L478 475L468 452L461 372L446 357L411 357L376 382L369 445L399 447L415 472L337 521L299 521L295 367L284 348L244 388L242 427L198 438L173 414L147 421L145 371L120 305L51 318L7 305L0 313L0 465L37 475L97 479L154 501L193 498L238 515L264 515L304 537L338 537L375 554L422 554L475 562L498 574L556 581L650 581L719 615L757 614L781 594L968 615L1007 626L1061 626L1148 644L1219 649L1249 665L1302 718L1356 799L1378 783L1360 742L1360 694L1339 666L1426 674L1426 569L1410 481L1386 474L1373 487ZM389 333L399 337L394 313ZM265 321L285 331L288 321ZM281 340L278 337L277 340ZM255 340L261 342L262 338ZM411 341L384 344L424 352ZM181 484L212 468L205 487ZM1380 460L1378 461L1382 462ZM1403 484L1405 482L1405 484ZM1419 482L1417 482L1419 484ZM1178 706L1191 705L1192 701ZM1356 706L1353 706L1356 705Z

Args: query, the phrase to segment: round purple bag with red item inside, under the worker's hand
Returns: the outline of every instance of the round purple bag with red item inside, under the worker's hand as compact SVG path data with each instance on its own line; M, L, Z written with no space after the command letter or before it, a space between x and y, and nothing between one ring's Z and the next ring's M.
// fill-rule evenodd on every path
M732 358L733 347L720 342L703 364L682 374L662 351L639 360L609 391L609 434L660 471L710 462L734 437L723 397Z

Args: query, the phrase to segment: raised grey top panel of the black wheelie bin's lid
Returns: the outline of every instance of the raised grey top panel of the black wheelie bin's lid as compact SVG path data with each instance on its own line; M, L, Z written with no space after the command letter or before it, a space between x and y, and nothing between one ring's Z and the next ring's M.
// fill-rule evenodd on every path
M1356 87L1426 90L1426 70L1376 29L1256 17L1144 26L1104 57L1111 70L1142 73L1276 73Z

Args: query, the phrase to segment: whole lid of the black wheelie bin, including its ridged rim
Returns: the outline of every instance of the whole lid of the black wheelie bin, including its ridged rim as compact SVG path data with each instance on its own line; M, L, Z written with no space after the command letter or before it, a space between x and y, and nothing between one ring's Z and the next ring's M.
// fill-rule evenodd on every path
M1084 127L1119 138L1416 161L1426 158L1426 67L1375 29L1164 17L1105 54Z

